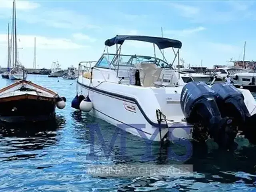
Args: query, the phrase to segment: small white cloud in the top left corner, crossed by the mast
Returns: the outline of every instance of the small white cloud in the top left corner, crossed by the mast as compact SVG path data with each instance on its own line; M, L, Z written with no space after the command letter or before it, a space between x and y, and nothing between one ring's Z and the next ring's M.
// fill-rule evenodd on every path
M0 8L12 8L13 0L0 0ZM40 4L27 1L27 0L16 0L16 9L29 10L40 7Z

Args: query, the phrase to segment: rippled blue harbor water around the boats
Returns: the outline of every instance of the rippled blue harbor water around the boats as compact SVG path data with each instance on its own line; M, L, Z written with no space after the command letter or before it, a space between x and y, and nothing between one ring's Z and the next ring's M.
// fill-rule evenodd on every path
M76 80L28 75L27 80L40 84L66 97L66 108L56 109L56 122L38 126L0 127L0 191L1 192L250 192L256 187L256 147L245 139L237 139L234 152L221 151L213 142L205 146L192 144L192 152L182 162L168 158L168 147L177 154L182 146L152 144L155 158L145 156L146 144L142 138L126 134L125 147L129 157L124 158L117 137L109 156L102 142L94 141L97 159L88 158L92 138L88 126L98 125L109 147L116 127L86 113L71 108L76 95ZM14 81L0 79L0 87ZM111 106L110 110L115 110ZM98 134L99 135L99 134ZM95 134L95 138L97 135ZM190 149L191 150L191 149ZM95 176L88 173L92 165L137 166L193 166L189 175L129 175Z

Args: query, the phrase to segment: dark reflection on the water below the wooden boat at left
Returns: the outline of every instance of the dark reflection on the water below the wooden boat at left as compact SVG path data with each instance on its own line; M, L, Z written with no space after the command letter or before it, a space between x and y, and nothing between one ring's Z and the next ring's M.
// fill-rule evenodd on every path
M40 124L0 124L0 161L34 158L31 150L42 150L57 142L57 130L64 127L63 116ZM28 153L25 154L24 151Z

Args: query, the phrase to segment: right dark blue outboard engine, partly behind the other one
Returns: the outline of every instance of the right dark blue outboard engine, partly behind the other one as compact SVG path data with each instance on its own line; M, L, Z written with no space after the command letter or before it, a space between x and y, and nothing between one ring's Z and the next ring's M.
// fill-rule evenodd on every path
M234 118L245 138L256 144L256 114L249 113L242 92L229 83L216 83L211 89L216 92L216 102L222 116Z

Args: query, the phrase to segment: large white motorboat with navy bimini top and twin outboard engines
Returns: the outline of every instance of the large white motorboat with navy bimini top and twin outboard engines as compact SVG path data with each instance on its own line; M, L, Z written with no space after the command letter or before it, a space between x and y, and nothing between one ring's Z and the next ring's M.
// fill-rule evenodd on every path
M231 84L223 83L186 84L172 68L174 61L168 64L165 58L120 54L125 40L151 42L161 53L164 48L177 48L174 61L182 47L178 40L150 36L116 36L106 40L106 48L119 45L116 54L102 54L94 66L79 64L73 108L153 141L188 138L205 142L210 136L220 146L230 147L238 132L232 119L235 117L239 125L248 125L243 130L247 138L256 136L252 128L256 101L248 90L233 89ZM225 110L230 107L233 109L227 115Z

